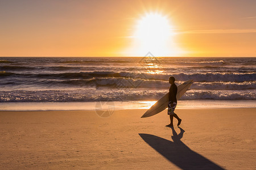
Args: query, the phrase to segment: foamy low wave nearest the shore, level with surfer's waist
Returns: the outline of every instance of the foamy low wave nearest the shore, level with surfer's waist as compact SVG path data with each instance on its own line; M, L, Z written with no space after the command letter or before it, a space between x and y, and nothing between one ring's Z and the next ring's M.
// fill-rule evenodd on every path
M73 90L73 91L0 91L0 102L35 101L140 101L158 100L168 91L159 90ZM181 100L255 100L256 91L188 91Z

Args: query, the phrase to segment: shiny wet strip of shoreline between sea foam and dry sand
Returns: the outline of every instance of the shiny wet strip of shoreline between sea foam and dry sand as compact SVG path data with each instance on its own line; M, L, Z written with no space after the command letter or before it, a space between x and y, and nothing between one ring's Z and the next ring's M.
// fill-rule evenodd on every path
M0 111L96 111L149 109L156 101L4 102ZM179 100L176 109L256 108L255 100Z

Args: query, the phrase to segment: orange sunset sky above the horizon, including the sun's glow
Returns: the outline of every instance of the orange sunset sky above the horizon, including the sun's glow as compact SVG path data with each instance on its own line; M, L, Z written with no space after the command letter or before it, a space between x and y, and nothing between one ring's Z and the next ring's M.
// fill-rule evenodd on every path
M0 57L143 56L147 52L255 57L255 7L255 0L0 0ZM150 14L160 18L151 20ZM139 24L147 16L150 23ZM162 18L169 27L159 22ZM167 28L170 32L162 31Z

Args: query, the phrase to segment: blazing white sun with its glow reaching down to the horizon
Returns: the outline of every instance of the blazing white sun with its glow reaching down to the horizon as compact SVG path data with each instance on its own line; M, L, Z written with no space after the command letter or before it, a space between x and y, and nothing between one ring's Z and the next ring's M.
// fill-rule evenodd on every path
M139 18L135 24L133 44L126 51L129 56L177 56L179 49L173 42L173 28L167 16L150 12Z

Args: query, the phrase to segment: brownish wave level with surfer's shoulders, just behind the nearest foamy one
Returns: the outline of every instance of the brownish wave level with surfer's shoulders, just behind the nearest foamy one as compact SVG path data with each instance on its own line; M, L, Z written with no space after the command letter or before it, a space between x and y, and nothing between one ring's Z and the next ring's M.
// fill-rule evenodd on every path
M176 82L180 84L182 82ZM148 90L167 90L170 84L162 80L143 80L131 78L92 78L92 79L69 79L69 80L56 80L56 79L26 79L26 80L5 80L0 82L0 86L8 84L15 85L28 85L38 88L42 87L94 87L106 89L122 89L122 88L143 88ZM195 90L254 90L256 89L256 82L194 82L191 86Z

